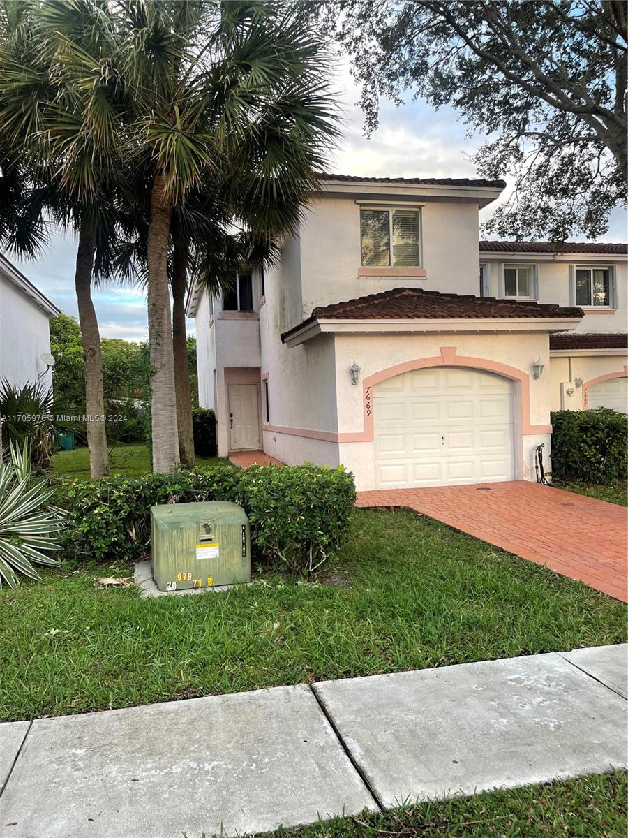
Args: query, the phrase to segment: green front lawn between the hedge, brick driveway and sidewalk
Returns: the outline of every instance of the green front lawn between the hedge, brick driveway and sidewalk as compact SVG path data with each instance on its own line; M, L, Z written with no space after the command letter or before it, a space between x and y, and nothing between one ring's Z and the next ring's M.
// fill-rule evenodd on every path
M356 510L332 570L142 599L121 566L0 591L0 721L612 644L625 608L581 582L399 510Z

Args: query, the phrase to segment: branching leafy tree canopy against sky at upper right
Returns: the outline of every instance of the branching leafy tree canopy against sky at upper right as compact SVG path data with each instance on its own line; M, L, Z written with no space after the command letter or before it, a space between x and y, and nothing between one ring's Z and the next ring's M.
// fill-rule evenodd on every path
M626 12L609 0L330 0L366 127L404 91L488 135L472 158L514 190L486 230L564 241L626 199ZM335 23L337 22L337 23ZM330 25L330 24L327 24Z

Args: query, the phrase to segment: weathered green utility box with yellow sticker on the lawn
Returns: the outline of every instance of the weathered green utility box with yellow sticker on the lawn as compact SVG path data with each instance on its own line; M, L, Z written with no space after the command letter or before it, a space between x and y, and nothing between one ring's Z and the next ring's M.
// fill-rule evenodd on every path
M152 576L160 591L250 581L250 528L229 501L151 508Z

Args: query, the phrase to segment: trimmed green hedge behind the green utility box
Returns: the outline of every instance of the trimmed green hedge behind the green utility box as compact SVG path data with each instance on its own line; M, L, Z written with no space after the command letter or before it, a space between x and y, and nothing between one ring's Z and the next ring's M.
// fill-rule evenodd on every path
M71 556L139 561L150 556L151 507L232 500L246 510L257 556L311 572L337 549L355 501L342 466L218 466L142 478L77 480L59 487L68 511L61 537Z

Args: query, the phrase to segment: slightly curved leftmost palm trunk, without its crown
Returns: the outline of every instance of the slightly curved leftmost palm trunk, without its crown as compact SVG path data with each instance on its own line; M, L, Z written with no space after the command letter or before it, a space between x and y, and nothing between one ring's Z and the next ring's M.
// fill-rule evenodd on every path
M75 288L79 305L80 339L85 361L85 412L87 414L87 447L90 451L90 476L93 480L104 477L107 465L107 435L105 422L105 394L102 384L102 355L100 332L94 303L91 298L91 277L96 250L95 227L85 223L79 232L79 249L76 253Z

